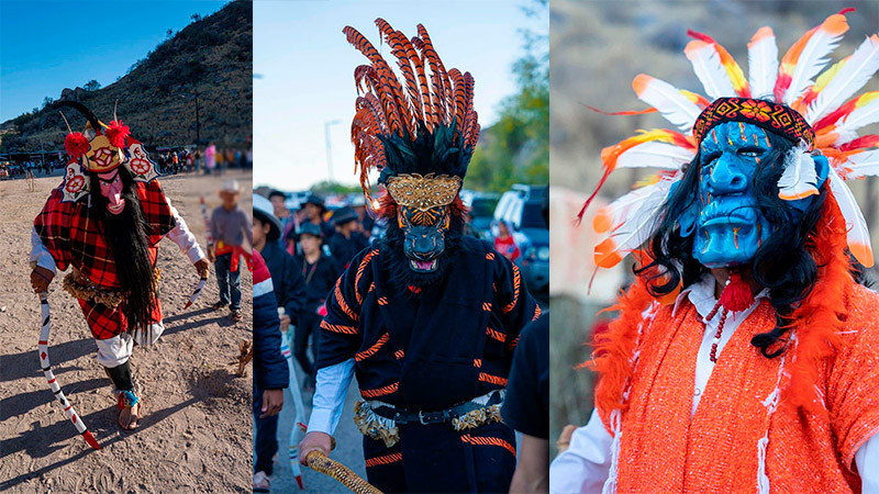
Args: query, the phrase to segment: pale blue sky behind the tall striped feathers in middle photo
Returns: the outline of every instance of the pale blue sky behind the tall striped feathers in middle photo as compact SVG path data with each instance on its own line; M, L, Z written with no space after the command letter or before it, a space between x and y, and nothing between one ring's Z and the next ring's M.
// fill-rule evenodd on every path
M527 18L526 0L268 1L254 3L254 186L303 190L330 177L324 126L330 126L333 178L357 184L351 121L354 68L366 63L345 40L351 25L378 47L376 18L411 37L424 24L446 68L469 70L482 127L515 92L511 66L523 54L519 30L548 32L548 15ZM388 56L387 46L379 48Z

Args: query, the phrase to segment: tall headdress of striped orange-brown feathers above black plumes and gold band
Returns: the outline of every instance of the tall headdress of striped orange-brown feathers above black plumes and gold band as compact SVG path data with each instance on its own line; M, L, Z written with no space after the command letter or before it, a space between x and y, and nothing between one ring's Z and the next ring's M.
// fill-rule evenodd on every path
M423 25L411 40L382 19L382 40L397 58L402 79L357 30L342 30L368 59L354 69L358 94L351 126L355 172L371 200L368 173L380 172L398 204L430 209L450 204L460 190L479 138L474 78L446 71Z

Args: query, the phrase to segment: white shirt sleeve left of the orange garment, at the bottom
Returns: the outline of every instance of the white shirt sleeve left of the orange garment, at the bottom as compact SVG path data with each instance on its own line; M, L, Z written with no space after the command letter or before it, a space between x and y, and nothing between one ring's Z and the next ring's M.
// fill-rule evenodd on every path
M574 431L568 449L549 464L549 492L600 493L610 474L612 441L598 411L592 411L589 423Z

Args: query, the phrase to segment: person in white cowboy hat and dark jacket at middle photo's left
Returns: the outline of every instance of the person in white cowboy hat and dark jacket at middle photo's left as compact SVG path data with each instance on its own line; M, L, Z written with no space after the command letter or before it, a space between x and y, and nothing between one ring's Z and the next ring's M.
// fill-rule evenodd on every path
M297 269L293 257L277 242L280 237L281 222L272 214L272 204L262 195L254 195L253 210L254 248L263 255L271 272L281 332L286 332L290 325L297 325L299 311L305 303L305 282Z

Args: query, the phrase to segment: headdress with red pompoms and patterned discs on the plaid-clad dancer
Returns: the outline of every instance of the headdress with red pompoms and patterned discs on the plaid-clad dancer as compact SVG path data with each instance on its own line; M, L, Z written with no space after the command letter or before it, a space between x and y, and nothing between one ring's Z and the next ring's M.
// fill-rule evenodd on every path
M104 173L124 166L134 180L148 182L158 177L156 166L149 159L141 142L131 137L129 126L123 124L113 110L113 121L105 125L85 104L76 101L60 101L55 108L69 106L86 117L84 132L74 132L67 124L64 148L70 156L64 178L63 201L78 201L89 191L86 173Z

